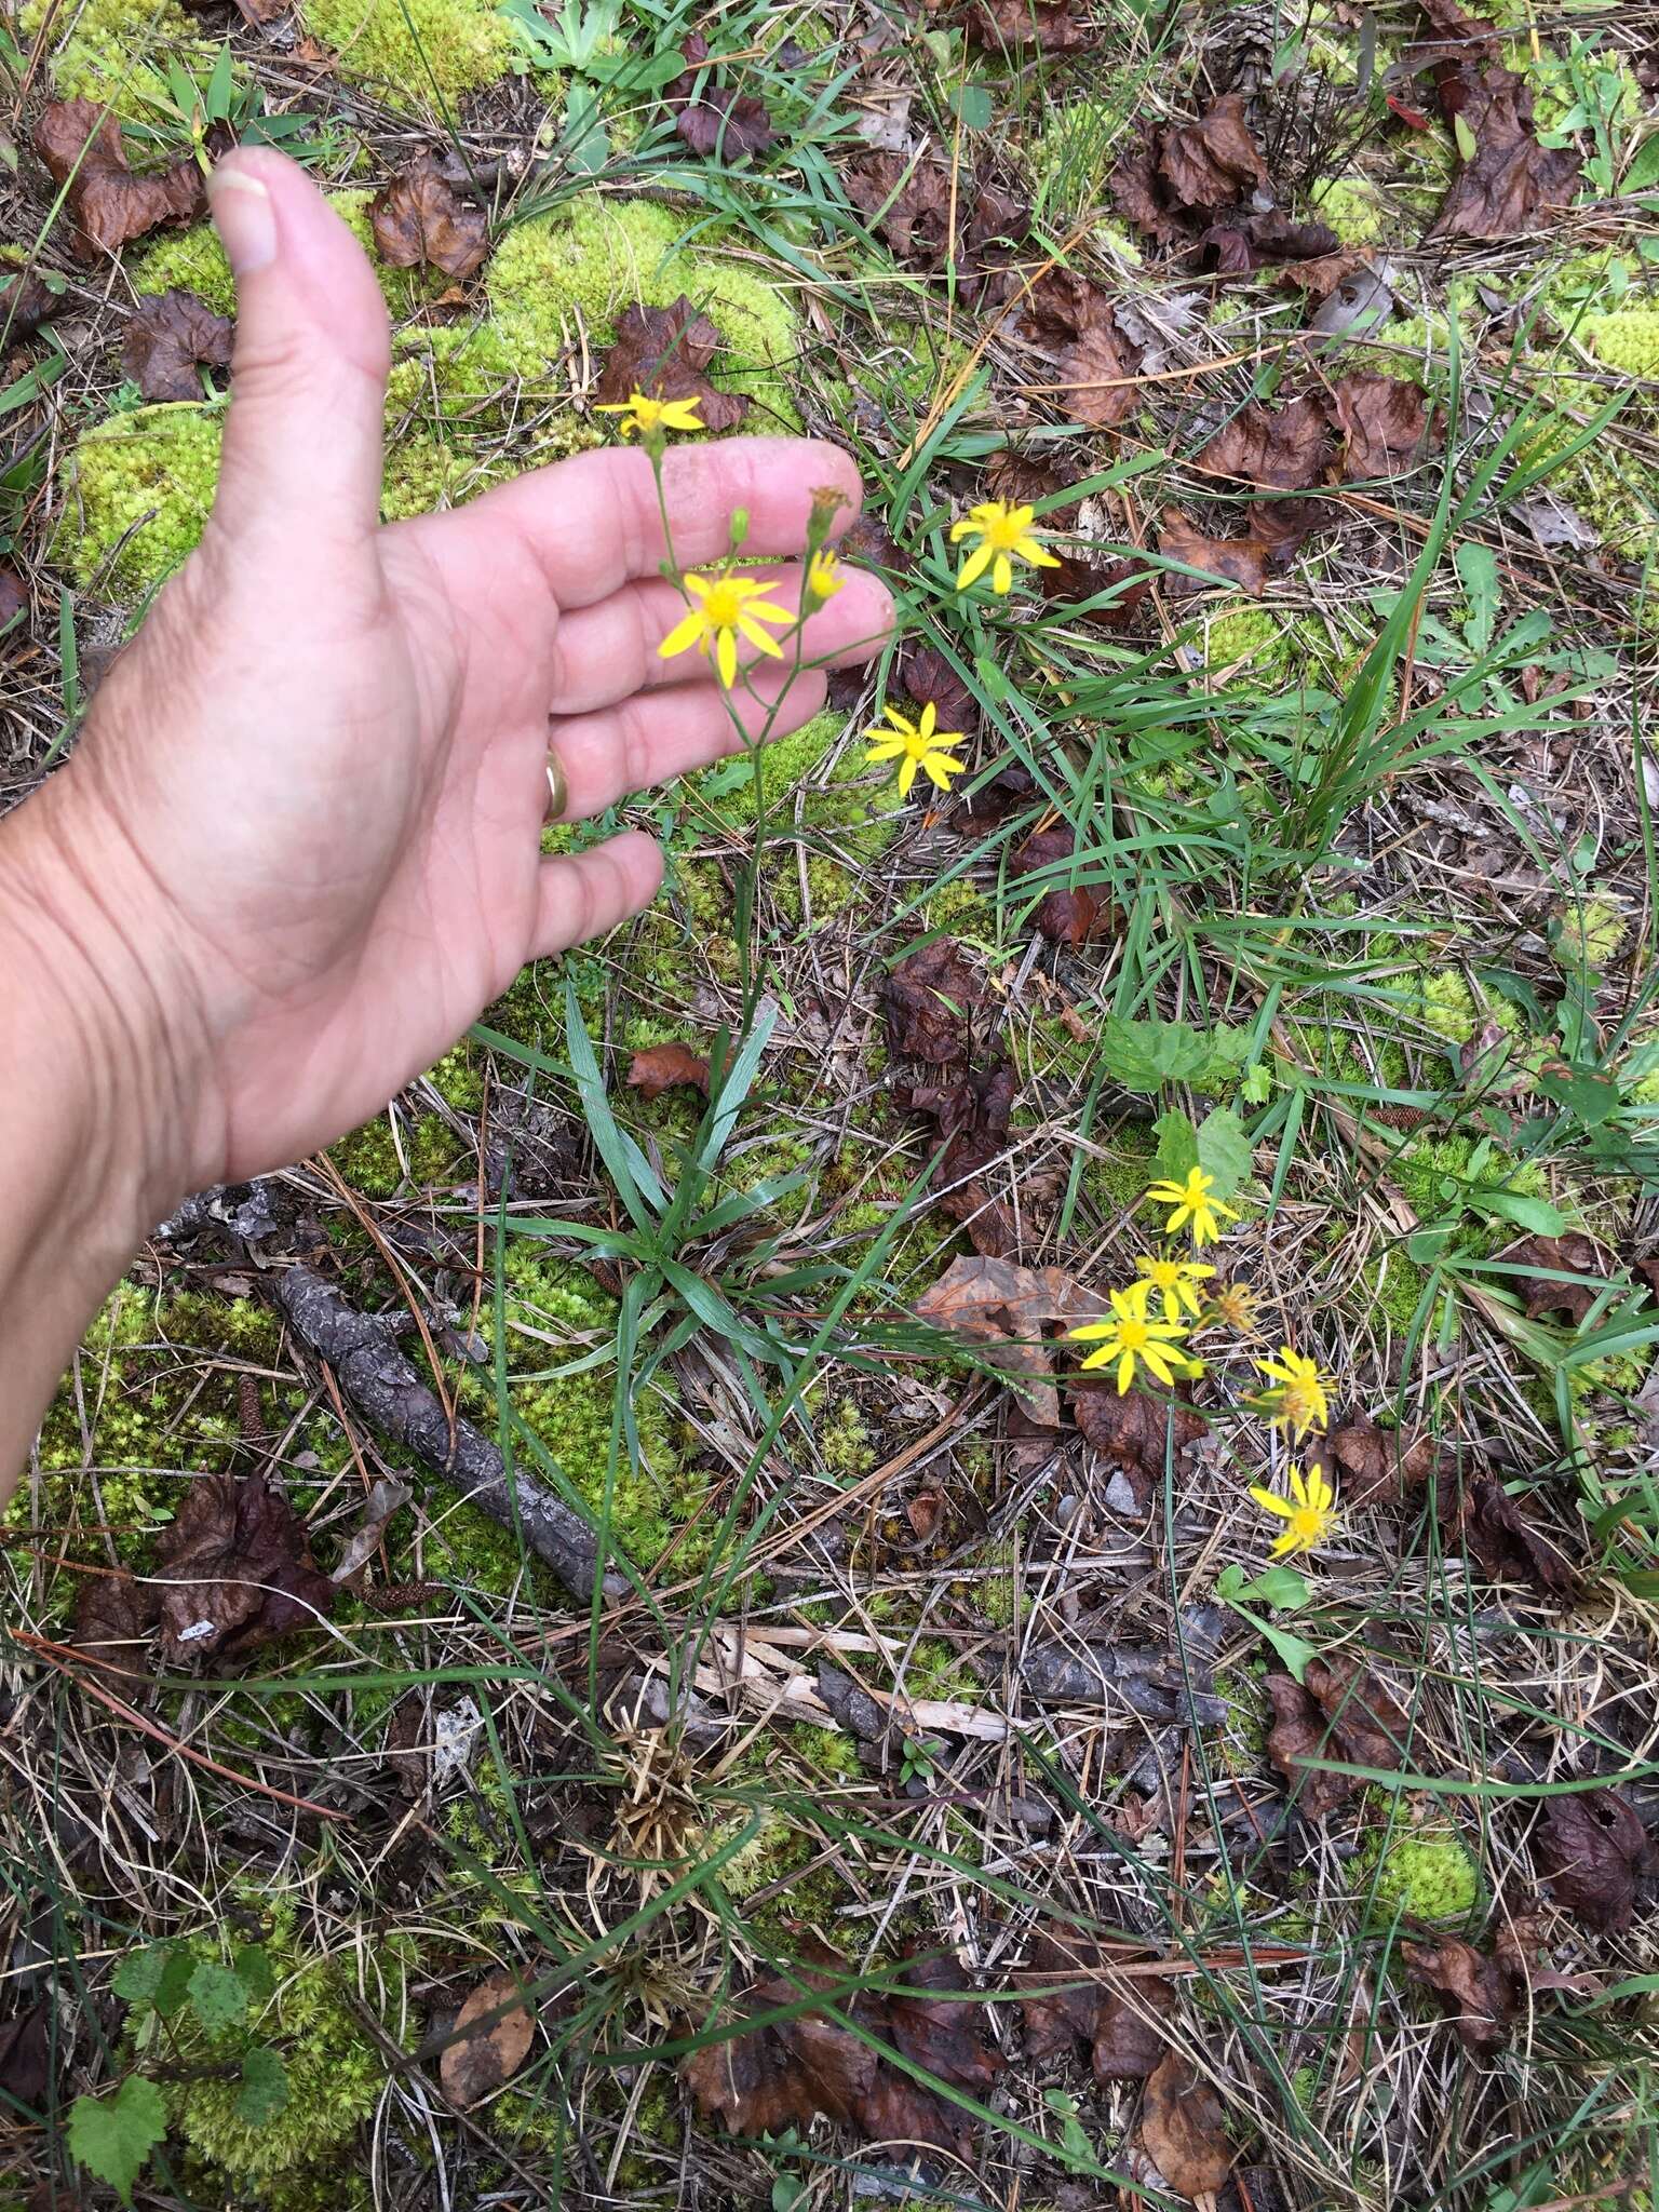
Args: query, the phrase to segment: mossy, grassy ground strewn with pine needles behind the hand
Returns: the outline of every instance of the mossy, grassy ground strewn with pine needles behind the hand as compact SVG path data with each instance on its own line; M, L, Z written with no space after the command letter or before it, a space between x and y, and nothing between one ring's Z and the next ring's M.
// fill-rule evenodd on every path
M739 757L551 832L653 827L664 896L529 969L484 1033L272 1179L276 1225L250 1245L157 1239L111 1296L0 1553L0 2037L35 2002L58 2037L58 2104L0 2157L0 2212L73 2201L69 2104L131 2075L166 2121L139 2203L896 2201L914 2146L827 2119L737 2143L675 2053L810 1940L872 1975L945 1949L1006 2000L1055 1920L1172 1969L1168 2035L1221 2097L1241 2205L1650 2203L1650 2000L1630 1995L1659 1964L1650 1929L1586 1924L1540 1847L1564 1783L1635 1776L1652 1820L1646 11L1493 11L1540 126L1586 168L1557 217L1480 243L1429 239L1460 155L1429 80L1400 75L1405 0L1040 9L1086 35L1015 55L980 35L1009 20L984 7L706 20L624 0L542 13L544 33L533 13L301 0L261 29L29 0L0 27L0 153L44 97L80 95L131 126L135 164L170 159L192 142L179 71L206 88L223 49L241 124L292 124L365 243L414 146L458 155L491 217L478 276L376 263L387 522L613 438L593 403L619 316L690 299L748 429L856 451L860 553L938 655L971 779L995 774L1013 812L902 803L867 765L883 699L918 703L889 661L838 679L759 776ZM692 31L717 93L765 106L770 146L679 135L666 88ZM1230 91L1279 208L1385 274L1369 325L1314 325L1279 265L1170 250L1113 192L1141 126ZM962 210L987 184L1013 212L964 212L947 263L907 250L849 188L872 139L940 159ZM77 263L27 153L0 204L7 261L35 254L73 299L58 341L9 341L0 387L0 557L31 595L0 639L13 799L212 502L223 380L146 405L122 325L170 288L230 314L234 288L208 226ZM1051 257L1139 349L1110 431L1020 325ZM1239 487L1194 465L1217 425L1354 374L1420 387L1442 442L1387 482L1316 487L1325 526L1256 595L1144 560L1170 509L1248 529ZM1117 619L1071 615L1071 584L951 591L949 524L1009 469L1020 498L1088 484L1040 529L1130 564L1144 588ZM1099 914L1042 933L1018 849L1055 827ZM1102 1294L1155 1241L1168 1117L1241 1148L1237 1221L1203 1254L1210 1433L1168 1467L1161 1444L1139 1467L1095 1449L1071 1400L1057 1427L1033 1418L914 1316L973 1254L971 1208L922 1186L936 1146L909 1110L951 1077L891 1057L885 1029L889 969L936 938L975 978L975 1060L1015 1079L1006 1146L975 1170L1006 1259ZM745 982L768 1042L712 1146L701 1095L646 1097L630 1062L730 1055ZM1146 1077L1124 1024L1152 1020L1186 1040ZM701 1192L661 1230L677 1272L644 1310L637 1252L604 1241L628 1225L619 1157ZM1595 1303L1546 1283L1540 1303L1540 1237L1593 1241ZM613 1595L573 1597L347 1402L270 1296L292 1261L383 1314L458 1418L595 1524ZM1334 1462L1340 1522L1301 1595L1234 1610L1217 1577L1259 1575L1274 1533L1250 1484L1283 1486L1296 1455L1250 1413L1281 1345L1332 1378L1332 1427L1431 1440L1442 1495ZM274 1480L323 1571L378 1478L409 1495L327 1626L226 1674L142 1666L111 1688L73 1650L82 1593L157 1577L190 1484L223 1473ZM1458 1542L1475 1480L1571 1562L1571 1590L1524 1544ZM1356 1781L1325 1818L1287 1805L1265 1683L1285 1648L1263 1621L1387 1683L1402 1778ZM1212 1690L1225 1719L1042 1688L1033 1655L1091 1648ZM1374 1774L1376 1745L1347 1763ZM1544 1980L1478 2046L1402 1947L1491 1955L1515 1924ZM117 1991L157 1940L197 1962L261 1942L274 1989L230 2026L159 2024ZM540 1993L535 2042L462 2112L438 2044L502 1966ZM1033 2059L1011 2002L993 2017L993 2119L971 2161L922 2159L909 2201L1035 2212L1152 2185L1139 2088ZM281 2062L281 2110L239 2104L254 2048Z

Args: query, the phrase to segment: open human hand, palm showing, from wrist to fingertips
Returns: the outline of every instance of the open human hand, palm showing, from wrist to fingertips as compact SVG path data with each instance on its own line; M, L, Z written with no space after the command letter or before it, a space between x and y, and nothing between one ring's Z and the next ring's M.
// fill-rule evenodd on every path
M345 226L268 150L221 164L237 272L232 405L212 520L100 688L66 770L15 827L24 894L119 1002L139 1117L184 1194L303 1157L429 1066L520 967L648 905L653 838L544 860L546 748L566 814L737 750L710 664L661 661L684 602L639 451L566 460L473 504L378 526L387 319ZM856 511L834 447L679 447L675 555L796 553L818 487ZM799 571L783 571L783 606ZM891 604L872 575L805 630L863 659ZM785 681L761 661L759 734ZM823 706L794 679L772 734ZM38 929L35 929L38 936ZM46 936L42 960L53 962ZM146 1071L146 1055L157 1066Z

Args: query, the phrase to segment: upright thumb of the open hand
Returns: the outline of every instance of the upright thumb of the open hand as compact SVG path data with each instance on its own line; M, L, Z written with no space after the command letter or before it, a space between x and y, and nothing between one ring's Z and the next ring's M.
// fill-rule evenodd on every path
M312 179L268 146L208 179L237 279L237 347L215 522L345 535L380 520L387 312L367 257Z

